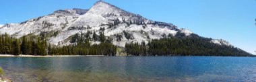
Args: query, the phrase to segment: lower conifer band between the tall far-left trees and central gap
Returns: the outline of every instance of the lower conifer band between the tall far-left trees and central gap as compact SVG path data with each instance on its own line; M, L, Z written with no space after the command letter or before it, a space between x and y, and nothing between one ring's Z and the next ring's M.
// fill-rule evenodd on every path
M102 42L100 44L90 45L89 42L77 43L76 45L67 46L49 46L49 55L109 55L114 56L117 47L112 43Z

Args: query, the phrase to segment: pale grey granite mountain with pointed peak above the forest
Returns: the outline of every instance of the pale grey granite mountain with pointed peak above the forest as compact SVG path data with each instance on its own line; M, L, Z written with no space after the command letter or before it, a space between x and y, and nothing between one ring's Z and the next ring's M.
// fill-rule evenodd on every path
M90 9L58 10L22 23L7 23L0 28L0 33L8 33L17 38L43 34L53 45L76 43L74 36L78 34L103 33L106 39L111 39L119 47L125 47L125 43L131 42L145 41L147 44L152 39L175 36L177 33L183 33L183 37L195 37L195 33L178 28L172 23L152 21L104 1L96 2ZM94 35L89 37L93 38ZM100 40L90 42L100 43ZM212 39L209 43L232 46L222 39Z

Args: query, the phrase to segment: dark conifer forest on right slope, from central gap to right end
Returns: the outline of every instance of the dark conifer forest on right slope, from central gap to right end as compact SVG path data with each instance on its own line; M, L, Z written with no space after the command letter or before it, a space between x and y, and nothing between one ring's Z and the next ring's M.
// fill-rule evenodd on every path
M163 39L153 39L145 43L127 43L125 51L128 55L194 55L194 56L252 56L250 53L228 45L212 43L212 39L191 35L185 37L177 33Z

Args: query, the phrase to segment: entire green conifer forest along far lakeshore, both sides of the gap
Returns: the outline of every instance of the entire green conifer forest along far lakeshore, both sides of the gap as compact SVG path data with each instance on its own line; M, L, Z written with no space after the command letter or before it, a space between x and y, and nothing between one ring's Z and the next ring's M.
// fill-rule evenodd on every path
M91 39L75 35L72 45L50 45L46 39L36 35L26 35L15 39L10 35L0 35L0 54L11 55L116 55L117 46L113 45L107 37L100 37L101 43L92 44ZM86 35L85 35L86 36ZM155 55L195 55L195 56L253 56L246 51L232 47L212 43L212 39L199 37L192 34L178 32L177 35L163 35L162 39L152 39L148 44L126 43L125 52L135 56ZM92 38L94 39L94 38Z

